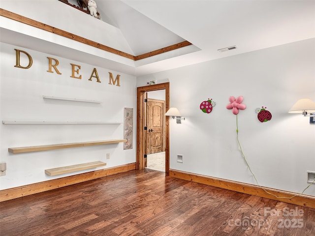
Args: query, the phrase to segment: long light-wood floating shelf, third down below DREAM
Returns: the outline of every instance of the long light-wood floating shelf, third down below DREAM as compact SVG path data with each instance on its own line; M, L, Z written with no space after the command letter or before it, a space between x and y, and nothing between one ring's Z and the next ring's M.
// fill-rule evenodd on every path
M102 140L102 141L92 141L92 142L82 142L82 143L69 143L69 144L52 144L52 145L41 145L41 146L31 146L31 147L20 147L20 148L8 148L11 153L22 153L22 152L32 152L32 151L45 151L54 150L61 148L76 148L76 147L86 147L95 145L105 145L105 144L117 144L127 142L126 139L113 139L113 140Z

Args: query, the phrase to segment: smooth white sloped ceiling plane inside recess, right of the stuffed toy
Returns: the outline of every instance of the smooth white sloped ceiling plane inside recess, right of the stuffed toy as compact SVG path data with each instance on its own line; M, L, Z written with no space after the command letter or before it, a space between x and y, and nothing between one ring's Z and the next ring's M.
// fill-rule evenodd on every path
M134 56L185 41L122 1L96 0L96 3L101 20L122 31Z

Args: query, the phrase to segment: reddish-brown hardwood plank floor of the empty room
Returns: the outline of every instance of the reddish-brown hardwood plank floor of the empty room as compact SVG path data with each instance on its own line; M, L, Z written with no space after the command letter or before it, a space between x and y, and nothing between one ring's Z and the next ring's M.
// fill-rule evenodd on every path
M0 235L314 236L315 209L146 169L1 202Z

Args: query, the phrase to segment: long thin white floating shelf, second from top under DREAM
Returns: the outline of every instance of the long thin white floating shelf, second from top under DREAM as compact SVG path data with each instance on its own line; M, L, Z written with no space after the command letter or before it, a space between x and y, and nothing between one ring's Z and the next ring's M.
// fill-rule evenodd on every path
M2 124L121 124L103 121L2 120Z

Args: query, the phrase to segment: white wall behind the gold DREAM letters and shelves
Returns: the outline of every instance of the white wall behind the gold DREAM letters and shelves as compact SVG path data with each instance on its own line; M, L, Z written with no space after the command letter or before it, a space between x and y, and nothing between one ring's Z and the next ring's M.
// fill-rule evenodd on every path
M26 51L32 56L31 68L14 67L15 48ZM0 177L1 189L91 171L50 177L45 175L45 169L92 161L106 162L105 167L97 168L105 169L135 162L135 128L133 148L129 150L124 150L123 143L119 143L20 154L9 153L8 148L14 147L123 139L123 123L23 125L2 124L2 120L123 122L124 108L127 107L134 109L133 123L135 124L136 78L82 63L80 58L77 61L63 59L5 43L0 43L0 50L0 161L7 163L6 176ZM59 60L57 68L61 75L47 72L47 57ZM21 64L26 65L27 62L25 55L21 54ZM79 74L82 79L70 78L70 63L81 66ZM97 69L101 83L97 83L95 78L89 81L94 68ZM113 74L114 79L118 74L121 75L120 87L108 84L109 72ZM90 99L102 103L43 99L43 95ZM106 159L106 153L110 153L110 159Z

